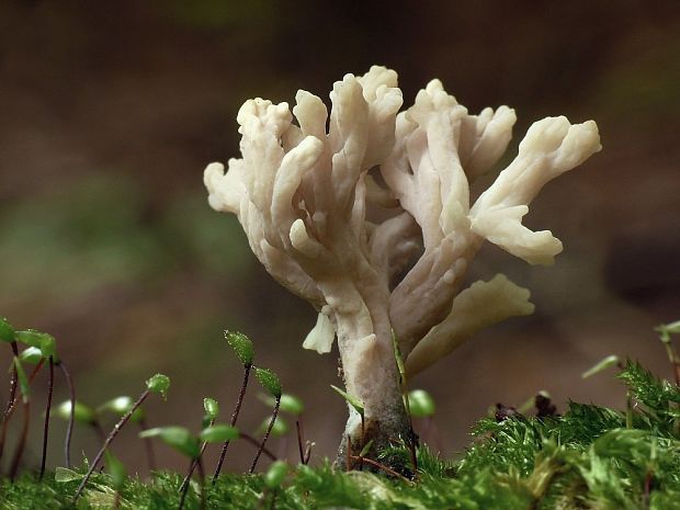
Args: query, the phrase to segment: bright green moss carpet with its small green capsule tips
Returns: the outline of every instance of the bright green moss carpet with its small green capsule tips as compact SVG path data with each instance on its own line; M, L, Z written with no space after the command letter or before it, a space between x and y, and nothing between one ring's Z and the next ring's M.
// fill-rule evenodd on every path
M669 336L678 328L668 326L658 331L677 369ZM177 473L157 472L150 479L129 477L125 466L107 453L105 472L93 469L94 462L73 469L58 467L42 480L34 473L13 481L1 479L0 509L680 509L680 386L637 362L607 360L586 375L617 366L616 377L628 397L626 409L569 403L567 411L557 415L543 394L535 398L533 416L499 406L494 417L477 423L475 440L460 460L438 458L421 445L416 473L404 442L378 458L362 458L360 453L358 464L365 471L339 472L328 462L294 466L274 460L262 473L226 473L214 484L201 481L205 478L202 468L202 476L189 484ZM303 403L282 394L275 374L264 369L256 374L268 397L281 401L282 410L302 412ZM147 381L149 392L165 394L168 385L162 375ZM413 416L432 417L435 404L429 395L412 392L409 399ZM211 398L204 403L200 433L160 427L140 435L158 438L196 462L201 442L222 443L247 435L231 426L215 424L219 406ZM132 415L134 407L125 406L125 415ZM87 413L86 421L91 422L93 416ZM258 456L261 452L262 445ZM91 477L84 485L88 473ZM82 494L73 503L81 486Z

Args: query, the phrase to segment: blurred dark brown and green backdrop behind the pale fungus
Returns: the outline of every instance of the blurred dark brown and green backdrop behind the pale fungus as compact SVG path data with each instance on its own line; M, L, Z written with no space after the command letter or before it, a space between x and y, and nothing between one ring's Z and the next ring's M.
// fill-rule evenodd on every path
M169 400L149 403L149 421L194 430L204 396L228 419L240 369L222 331L243 331L258 362L307 404L313 460L332 455L345 415L329 389L337 355L301 349L314 310L269 277L234 217L208 208L202 172L238 155L246 99L293 101L305 88L327 100L345 72L383 64L399 72L406 104L438 77L472 112L513 106L507 159L546 115L594 118L604 146L532 206L529 225L565 243L554 267L484 248L471 281L502 271L532 290L536 313L485 331L412 382L439 405L439 433L427 439L454 455L489 406L540 389L560 409L569 398L621 406L610 375L580 373L617 353L669 375L653 327L680 318L679 7L3 0L0 314L57 337L90 405L136 395L146 377L167 373ZM9 365L9 350L0 356ZM245 430L269 413L258 392L253 384ZM66 398L59 382L57 397ZM63 430L55 422L55 434ZM114 450L144 471L135 433ZM272 449L293 455L292 442ZM76 458L94 447L80 430ZM237 445L227 467L251 453ZM183 466L160 445L158 455Z

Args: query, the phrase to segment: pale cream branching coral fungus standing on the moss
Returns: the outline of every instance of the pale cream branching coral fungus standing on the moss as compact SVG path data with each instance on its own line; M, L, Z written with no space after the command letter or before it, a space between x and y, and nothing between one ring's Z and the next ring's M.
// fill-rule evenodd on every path
M204 182L270 274L318 311L303 347L325 353L338 339L345 394L364 409L348 406L343 464L345 449L373 441L375 454L388 438L411 437L393 335L410 378L479 329L533 311L529 291L501 274L463 288L467 270L485 240L530 264L553 263L562 242L522 218L543 185L601 146L593 121L535 122L471 203L469 184L510 141L513 110L471 115L432 80L399 112L397 73L378 66L344 76L330 100L330 115L303 90L292 112L246 101L241 158L226 172L208 165Z

